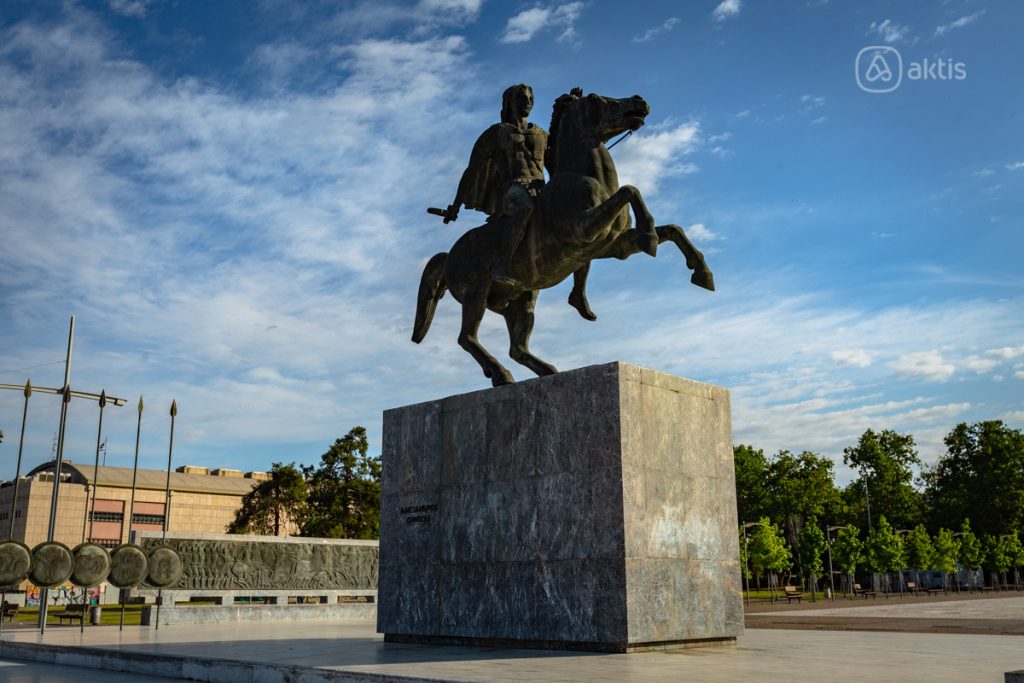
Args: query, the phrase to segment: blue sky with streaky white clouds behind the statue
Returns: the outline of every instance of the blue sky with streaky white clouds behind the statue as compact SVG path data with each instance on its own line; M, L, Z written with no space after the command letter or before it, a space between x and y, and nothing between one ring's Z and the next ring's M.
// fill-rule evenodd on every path
M506 86L534 86L545 127L582 86L650 103L620 176L718 291L670 248L596 263L599 319L543 293L535 352L728 387L735 440L767 451L841 462L894 428L933 462L957 422L1024 426L1022 30L1019 3L981 0L7 0L0 383L59 385L74 313L73 387L129 398L108 464L131 463L140 394L144 467L172 398L176 464L312 463L353 425L379 452L383 410L486 386L451 298L409 341L425 260L480 219L424 208ZM965 78L868 93L868 46ZM506 357L500 318L481 338ZM95 415L72 403L69 458L91 461ZM19 417L2 392L0 476ZM57 417L33 399L29 466Z

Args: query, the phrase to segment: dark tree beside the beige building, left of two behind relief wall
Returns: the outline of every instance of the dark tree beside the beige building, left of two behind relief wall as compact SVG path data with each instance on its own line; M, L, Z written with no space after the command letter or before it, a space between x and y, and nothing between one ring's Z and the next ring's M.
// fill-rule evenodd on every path
M306 501L306 480L295 463L274 463L270 478L261 481L242 497L242 507L228 524L228 533L288 535L302 517Z

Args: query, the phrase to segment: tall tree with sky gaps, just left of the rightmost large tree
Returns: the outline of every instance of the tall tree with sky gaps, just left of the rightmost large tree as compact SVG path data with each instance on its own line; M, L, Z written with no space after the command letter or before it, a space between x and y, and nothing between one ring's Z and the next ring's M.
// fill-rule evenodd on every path
M873 519L885 515L897 528L925 521L924 497L911 483L912 468L921 467L912 436L868 429L857 445L843 451L843 463L859 473L844 489L843 498L856 511L862 527L867 526L868 498Z

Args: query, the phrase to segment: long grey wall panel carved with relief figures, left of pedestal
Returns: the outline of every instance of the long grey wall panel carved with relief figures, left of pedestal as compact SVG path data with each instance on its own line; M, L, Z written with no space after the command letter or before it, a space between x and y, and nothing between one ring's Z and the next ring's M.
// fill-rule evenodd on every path
M150 552L167 545L181 579L167 590L377 590L376 544L141 538Z

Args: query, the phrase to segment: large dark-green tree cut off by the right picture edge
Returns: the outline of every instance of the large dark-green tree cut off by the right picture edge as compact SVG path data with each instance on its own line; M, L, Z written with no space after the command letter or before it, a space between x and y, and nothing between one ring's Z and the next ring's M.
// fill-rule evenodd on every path
M945 443L923 474L933 528L966 517L982 535L1024 527L1024 434L998 420L961 423Z

